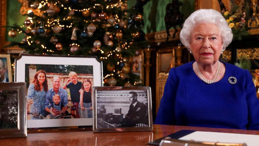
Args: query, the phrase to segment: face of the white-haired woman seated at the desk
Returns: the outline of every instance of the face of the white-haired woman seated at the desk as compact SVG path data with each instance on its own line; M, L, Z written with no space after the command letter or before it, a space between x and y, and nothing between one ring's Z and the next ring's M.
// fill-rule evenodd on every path
M192 31L190 49L197 63L215 64L222 51L219 28L214 24L198 24Z

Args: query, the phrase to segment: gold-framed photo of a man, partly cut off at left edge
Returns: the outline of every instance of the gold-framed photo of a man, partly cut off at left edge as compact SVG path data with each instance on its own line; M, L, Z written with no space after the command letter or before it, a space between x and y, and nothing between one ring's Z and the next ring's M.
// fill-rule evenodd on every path
M12 68L9 54L0 54L0 82L12 82Z

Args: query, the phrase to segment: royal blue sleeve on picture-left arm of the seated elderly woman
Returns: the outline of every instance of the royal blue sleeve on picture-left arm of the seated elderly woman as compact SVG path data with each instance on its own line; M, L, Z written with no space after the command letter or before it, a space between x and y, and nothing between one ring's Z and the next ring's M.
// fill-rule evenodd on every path
M160 101L157 117L154 124L174 125L175 119L175 98L178 88L178 81L175 68L169 71L169 76L165 83L164 94Z

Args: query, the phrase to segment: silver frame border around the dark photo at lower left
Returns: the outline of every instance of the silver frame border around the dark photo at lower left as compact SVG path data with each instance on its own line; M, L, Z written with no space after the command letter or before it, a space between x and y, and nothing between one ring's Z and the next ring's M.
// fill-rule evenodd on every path
M0 83L1 91L17 91L17 128L0 129L0 138L27 136L26 83Z

